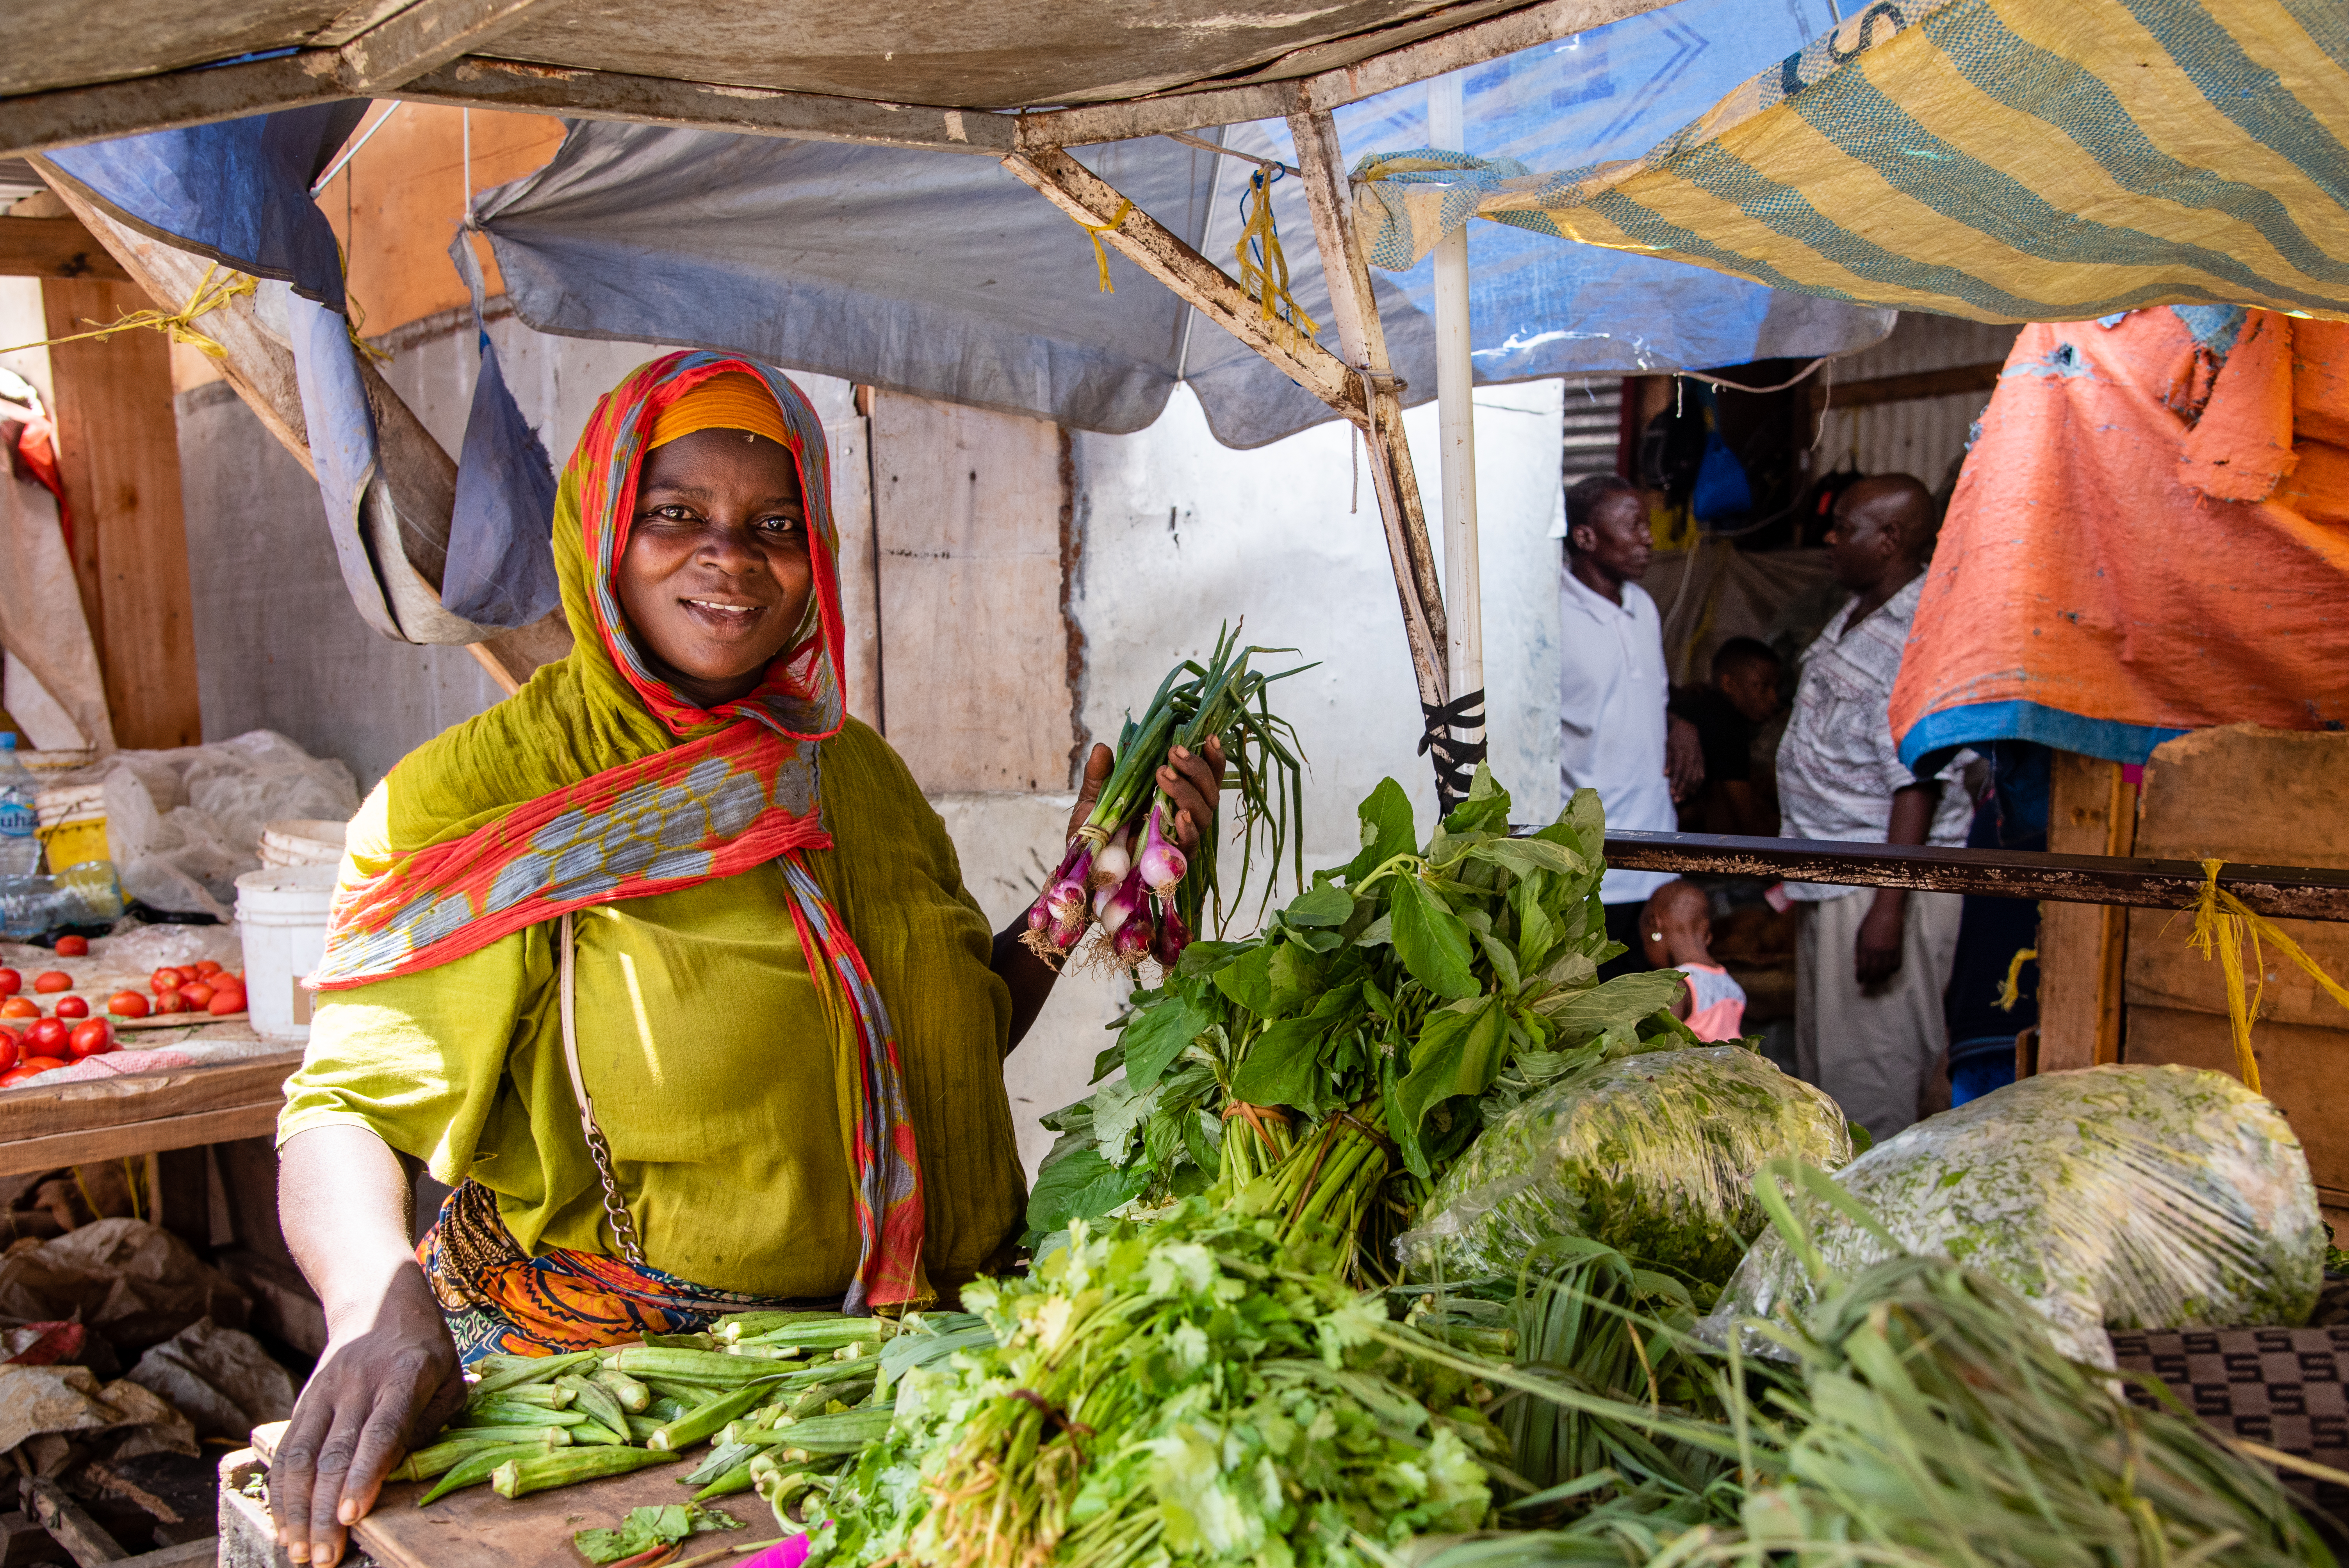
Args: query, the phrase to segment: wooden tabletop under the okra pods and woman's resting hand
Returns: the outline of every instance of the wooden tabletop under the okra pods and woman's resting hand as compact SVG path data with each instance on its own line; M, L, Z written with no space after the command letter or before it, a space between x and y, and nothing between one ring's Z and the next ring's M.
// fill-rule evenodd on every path
M254 1427L251 1460L265 1467L282 1434L284 1422ZM512 1502L489 1486L470 1486L442 1498L432 1507L418 1509L416 1498L425 1493L425 1483L395 1481L383 1488L376 1512L350 1530L350 1540L378 1568L585 1568L587 1559L571 1547L573 1530L597 1526L618 1528L632 1507L688 1500L693 1493L677 1481L700 1465L707 1453L707 1448L695 1448L677 1465L655 1465L653 1469L611 1476L608 1481L585 1481L552 1493L531 1493ZM230 1455L221 1465L223 1568L254 1561L249 1545L230 1549L228 1533L237 1523L237 1516L242 1516L244 1535L251 1535L254 1528L265 1530L265 1523L256 1523L265 1516L265 1507L242 1498L237 1491L242 1479L251 1474L251 1465L240 1469L235 1460L237 1455ZM768 1547L778 1540L775 1516L759 1500L759 1493L719 1498L705 1507L733 1514L749 1528L695 1535L686 1542L679 1554L681 1559L726 1549L728 1556L716 1559L712 1566L723 1568L747 1556L754 1547Z

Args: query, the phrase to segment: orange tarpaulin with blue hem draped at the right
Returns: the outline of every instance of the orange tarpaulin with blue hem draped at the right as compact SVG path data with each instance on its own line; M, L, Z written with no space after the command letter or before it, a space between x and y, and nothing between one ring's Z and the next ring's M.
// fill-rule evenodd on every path
M2349 326L2185 305L2015 338L1917 601L1900 761L2145 763L2349 725Z

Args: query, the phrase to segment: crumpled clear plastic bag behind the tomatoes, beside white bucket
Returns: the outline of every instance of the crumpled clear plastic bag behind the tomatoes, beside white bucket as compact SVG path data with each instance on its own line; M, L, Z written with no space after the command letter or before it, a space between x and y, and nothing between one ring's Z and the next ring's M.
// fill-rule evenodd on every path
M237 876L261 866L277 817L350 817L350 768L275 730L176 751L117 751L85 779L106 789L106 843L122 892L153 908L230 918Z

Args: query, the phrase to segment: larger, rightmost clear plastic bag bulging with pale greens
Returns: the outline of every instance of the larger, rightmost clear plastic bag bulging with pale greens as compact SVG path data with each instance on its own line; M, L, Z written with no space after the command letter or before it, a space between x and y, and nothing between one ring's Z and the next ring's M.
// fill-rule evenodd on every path
M1917 1122L1837 1183L1905 1251L2020 1293L2065 1354L2112 1366L2105 1329L2297 1326L2323 1284L2323 1221L2283 1115L2225 1073L2044 1073ZM1828 1268L1889 1256L1842 1214L1811 1216ZM1755 1244L1703 1331L1811 1300L1776 1232ZM1752 1350L1766 1352L1757 1336Z

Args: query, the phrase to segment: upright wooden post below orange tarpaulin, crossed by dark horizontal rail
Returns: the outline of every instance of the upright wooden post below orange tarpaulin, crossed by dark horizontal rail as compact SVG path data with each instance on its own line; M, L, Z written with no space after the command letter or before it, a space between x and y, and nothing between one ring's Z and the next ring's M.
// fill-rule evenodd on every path
M2107 763L2058 751L2048 789L2051 854L2131 854L2138 786ZM2109 904L2039 906L2039 1070L2121 1059L2121 967L2128 911Z

